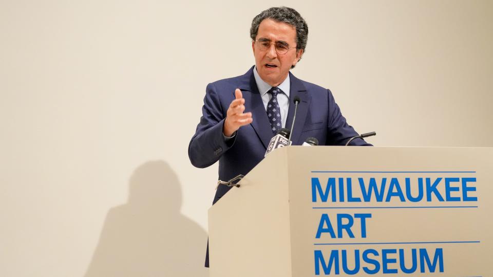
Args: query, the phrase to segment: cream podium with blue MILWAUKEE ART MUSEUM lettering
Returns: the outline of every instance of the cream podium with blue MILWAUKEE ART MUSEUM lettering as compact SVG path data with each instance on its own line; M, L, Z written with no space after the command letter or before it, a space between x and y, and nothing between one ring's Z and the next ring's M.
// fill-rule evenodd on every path
M239 184L211 277L493 276L493 148L290 146Z

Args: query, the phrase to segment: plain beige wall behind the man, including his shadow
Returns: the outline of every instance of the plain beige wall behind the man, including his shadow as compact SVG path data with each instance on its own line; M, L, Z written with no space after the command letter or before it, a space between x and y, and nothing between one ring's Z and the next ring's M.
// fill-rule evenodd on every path
M217 166L193 168L188 141L277 5L310 27L293 73L368 141L493 146L491 1L4 0L0 275L206 276Z

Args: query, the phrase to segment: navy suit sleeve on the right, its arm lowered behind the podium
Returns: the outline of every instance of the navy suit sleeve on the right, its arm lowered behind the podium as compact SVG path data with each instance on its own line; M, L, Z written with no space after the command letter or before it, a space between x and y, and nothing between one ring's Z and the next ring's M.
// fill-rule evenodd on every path
M354 128L347 123L346 118L340 113L340 108L335 103L331 91L327 89L327 92L329 101L327 145L345 145L350 138L357 136L358 133L354 131ZM354 139L349 145L372 146L361 138Z

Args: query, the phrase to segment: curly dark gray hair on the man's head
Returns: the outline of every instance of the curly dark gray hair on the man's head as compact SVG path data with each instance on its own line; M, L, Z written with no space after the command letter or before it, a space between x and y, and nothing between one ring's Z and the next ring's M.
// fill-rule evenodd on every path
M299 12L293 8L288 7L272 7L270 9L262 11L259 15L255 16L252 21L252 27L250 28L250 38L255 41L258 33L258 26L264 19L272 19L278 22L287 23L296 28L296 50L307 47L308 41L308 25L301 17Z

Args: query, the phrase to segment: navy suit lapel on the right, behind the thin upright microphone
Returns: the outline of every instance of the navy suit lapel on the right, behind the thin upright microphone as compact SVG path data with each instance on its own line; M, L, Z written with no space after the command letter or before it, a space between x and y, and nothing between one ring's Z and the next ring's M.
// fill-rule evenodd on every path
M301 131L303 126L305 125L305 121L307 119L308 107L310 106L311 97L305 88L305 85L294 75L289 72L290 78L290 92L289 92L289 112L288 118L286 120L286 128L290 129L293 117L294 117L294 103L293 100L296 96L301 99L301 102L298 105L298 111L296 112L296 119L294 122L294 133L291 130L291 140L293 144L297 144L299 140L299 136L301 135Z

